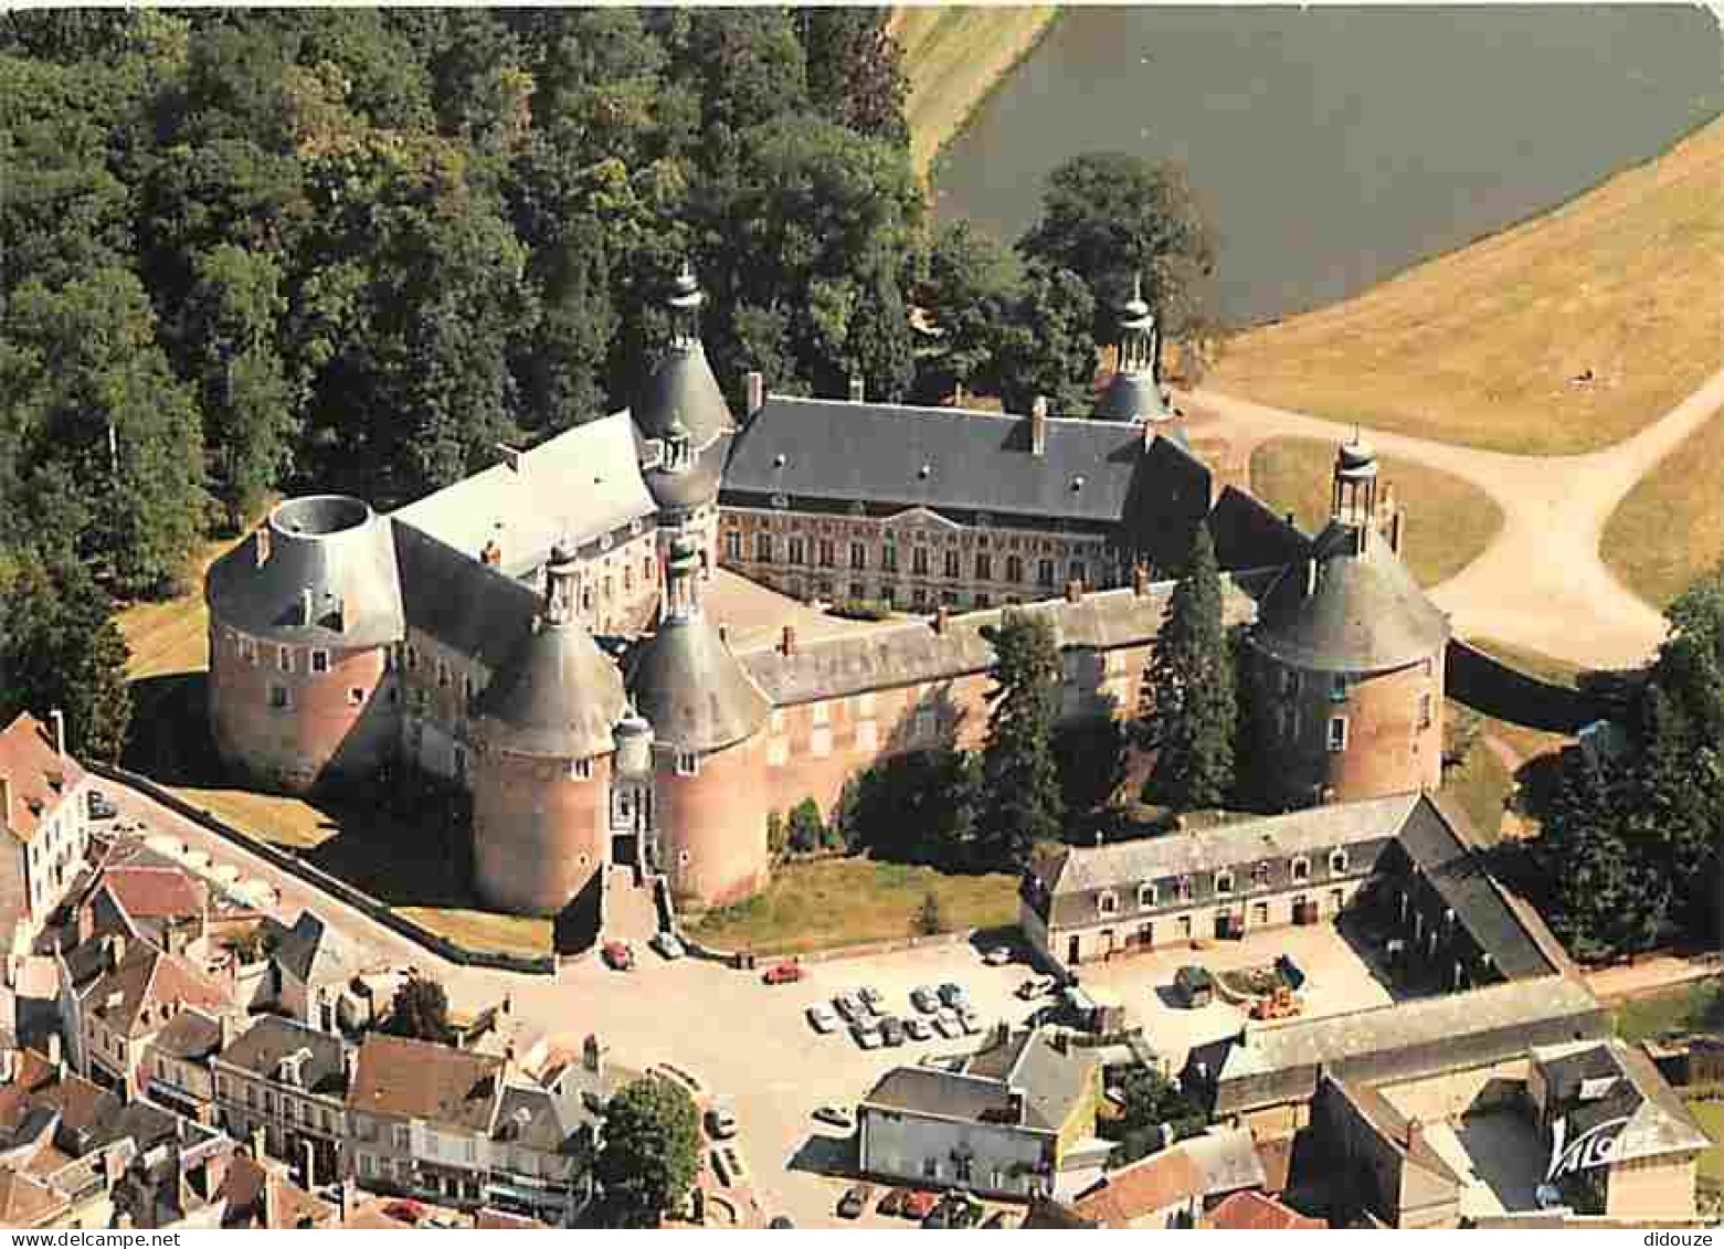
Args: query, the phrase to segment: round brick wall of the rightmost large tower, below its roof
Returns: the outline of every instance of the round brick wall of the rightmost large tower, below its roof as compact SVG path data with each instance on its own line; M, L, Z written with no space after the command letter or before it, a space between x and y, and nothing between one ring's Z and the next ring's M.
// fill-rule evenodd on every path
M1296 670L1257 653L1259 749L1293 806L1433 791L1443 780L1443 651L1395 672ZM1333 722L1345 724L1334 746Z

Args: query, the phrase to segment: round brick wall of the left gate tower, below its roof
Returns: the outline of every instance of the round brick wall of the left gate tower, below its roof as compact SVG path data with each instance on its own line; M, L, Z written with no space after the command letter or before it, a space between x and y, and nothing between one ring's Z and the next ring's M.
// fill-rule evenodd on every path
M514 915L555 915L607 861L610 758L484 751L471 770L472 887Z

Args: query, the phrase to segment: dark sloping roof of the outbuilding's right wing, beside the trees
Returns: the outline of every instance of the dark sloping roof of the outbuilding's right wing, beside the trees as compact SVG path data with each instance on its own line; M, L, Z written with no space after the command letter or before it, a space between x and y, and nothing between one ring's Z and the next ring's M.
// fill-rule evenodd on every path
M1536 918L1527 922L1526 913L1508 906L1464 829L1457 829L1436 803L1414 806L1398 842L1505 979L1565 970L1565 963L1545 949L1545 942L1555 944L1545 925Z

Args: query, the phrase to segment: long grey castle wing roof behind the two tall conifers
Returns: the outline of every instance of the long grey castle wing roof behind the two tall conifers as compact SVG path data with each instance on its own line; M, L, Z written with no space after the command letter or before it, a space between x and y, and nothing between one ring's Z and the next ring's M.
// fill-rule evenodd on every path
M1126 587L1090 593L1078 603L1059 598L1014 610L1048 617L1062 648L1107 651L1150 641L1160 631L1172 587L1169 581L1150 586L1143 596ZM1252 618L1255 608L1248 596L1231 582L1224 582L1222 593L1229 624ZM738 658L776 706L793 706L986 672L993 667L993 644L981 631L998 625L1003 615L1005 608L952 617L943 634L921 620L864 629L796 643L791 655L760 643ZM657 720L653 724L657 727Z

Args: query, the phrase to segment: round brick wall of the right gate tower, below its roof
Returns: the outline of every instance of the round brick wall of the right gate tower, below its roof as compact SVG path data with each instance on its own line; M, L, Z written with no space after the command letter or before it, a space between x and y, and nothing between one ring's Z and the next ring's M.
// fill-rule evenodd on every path
M659 842L671 892L709 906L741 901L765 887L765 736L695 760L653 753ZM681 770L679 770L681 765Z

